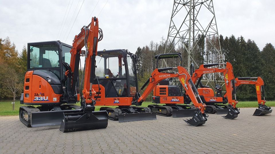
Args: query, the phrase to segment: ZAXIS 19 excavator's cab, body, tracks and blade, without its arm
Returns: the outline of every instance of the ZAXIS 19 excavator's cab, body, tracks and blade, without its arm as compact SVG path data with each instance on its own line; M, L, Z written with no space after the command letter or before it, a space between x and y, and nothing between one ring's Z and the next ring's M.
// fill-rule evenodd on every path
M156 119L149 108L131 106L137 93L137 56L128 50L103 50L96 56L96 69L93 89L96 106L107 111L109 119L119 122Z

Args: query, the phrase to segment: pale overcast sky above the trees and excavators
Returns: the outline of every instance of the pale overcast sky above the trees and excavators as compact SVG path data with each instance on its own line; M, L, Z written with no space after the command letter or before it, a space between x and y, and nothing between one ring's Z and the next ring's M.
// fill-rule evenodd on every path
M219 34L250 38L260 50L266 43L275 45L275 1L213 3ZM0 6L0 37L9 36L19 52L28 42L60 40L72 44L74 36L92 16L99 18L104 33L98 50L124 48L135 52L138 46L167 37L173 0L0 0Z

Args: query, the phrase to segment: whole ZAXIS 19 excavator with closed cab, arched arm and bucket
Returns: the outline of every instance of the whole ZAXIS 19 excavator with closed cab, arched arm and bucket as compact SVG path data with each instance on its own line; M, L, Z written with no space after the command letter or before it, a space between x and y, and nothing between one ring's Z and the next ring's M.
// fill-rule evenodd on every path
M161 59L173 55L175 54L160 54L157 57ZM151 112L150 106L149 108L138 106L142 105L142 102L146 100L160 81L166 78L179 78L196 107L187 115L192 119L186 120L186 123L192 126L205 123L207 120L207 114L204 113L206 105L197 101L197 89L185 68L181 66L156 68L151 77L140 88L140 90L143 90L148 85L143 94L140 94L137 87L138 70L136 60L136 55L131 54L128 50L103 50L98 52L95 71L97 79L94 83L99 82L99 86L93 84L93 89L97 92L93 98L97 99L96 105L118 106L117 108L102 107L100 109L108 112L109 119L119 120L119 122L156 119L156 112L154 109L154 112ZM164 72L176 69L178 72ZM162 109L166 110L166 108Z

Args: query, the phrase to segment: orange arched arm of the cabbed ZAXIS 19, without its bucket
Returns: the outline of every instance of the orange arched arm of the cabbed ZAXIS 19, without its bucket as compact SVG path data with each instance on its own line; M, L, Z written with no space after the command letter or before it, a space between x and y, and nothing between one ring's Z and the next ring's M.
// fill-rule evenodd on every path
M172 70L174 68L178 68L178 72L169 73L169 72L163 72L165 70ZM199 108L201 110L201 113L204 114L204 108L206 107L205 104L202 103L202 101L199 103L196 95L198 95L198 91L195 88L195 85L193 84L191 79L191 76L188 74L187 70L184 67L178 66L178 67L168 67L168 68L156 68L153 72L151 77L146 81L146 83L142 86L141 90L148 84L147 88L145 89L144 93L141 96L138 96L136 98L136 104L141 104L144 102L147 98L147 96L152 92L154 87L163 79L166 78L179 78L181 84L183 85L186 93L190 97L191 101L195 105L196 108ZM199 98L200 99L200 98Z

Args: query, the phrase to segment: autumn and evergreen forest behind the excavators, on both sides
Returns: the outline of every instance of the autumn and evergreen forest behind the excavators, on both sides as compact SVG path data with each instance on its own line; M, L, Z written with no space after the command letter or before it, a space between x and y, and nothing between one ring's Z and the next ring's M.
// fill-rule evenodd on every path
M199 36L204 37L204 36ZM207 64L216 62L217 53L208 45L205 39L199 39L195 47L194 57L197 64ZM215 40L215 38L209 38ZM217 42L214 44L217 45ZM159 42L150 41L149 45L138 47L136 54L139 57L139 87L151 75L156 68L154 56L164 53L166 40L162 37ZM224 61L231 62L233 65L235 77L257 77L263 78L265 83L266 100L275 100L275 49L271 43L266 43L264 48L260 50L253 41L241 37L223 37L220 35L221 50L224 54ZM170 44L169 44L170 45ZM185 44L187 45L187 44ZM219 49L219 46L216 46ZM183 46L174 46L171 52L180 52L183 58L183 67L187 66L186 51ZM133 51L132 51L133 52ZM178 58L175 60L167 60L168 66L179 64ZM162 63L160 63L162 64ZM23 92L23 80L27 70L27 48L24 46L19 52L16 45L11 43L9 37L0 38L0 100L19 99ZM195 66L197 68L197 66ZM15 95L14 95L15 94ZM148 97L150 100L150 96ZM240 86L237 90L237 100L239 101L255 101L255 86Z

